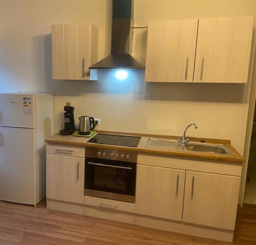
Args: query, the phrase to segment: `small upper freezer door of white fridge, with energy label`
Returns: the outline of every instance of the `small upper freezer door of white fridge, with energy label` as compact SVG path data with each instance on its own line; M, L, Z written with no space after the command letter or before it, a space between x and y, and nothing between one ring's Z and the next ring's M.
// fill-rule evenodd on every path
M36 127L35 96L0 94L0 125Z

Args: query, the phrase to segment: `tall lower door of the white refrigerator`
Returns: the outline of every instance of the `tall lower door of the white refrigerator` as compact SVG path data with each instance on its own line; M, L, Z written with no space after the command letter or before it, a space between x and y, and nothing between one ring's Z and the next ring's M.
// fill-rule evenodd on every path
M0 199L35 203L35 129L0 127Z

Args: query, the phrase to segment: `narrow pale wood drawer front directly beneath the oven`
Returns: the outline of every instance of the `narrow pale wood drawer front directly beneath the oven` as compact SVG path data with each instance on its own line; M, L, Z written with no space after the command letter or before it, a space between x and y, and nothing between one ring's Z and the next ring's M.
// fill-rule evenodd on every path
M126 203L123 201L115 201L110 199L88 196L84 196L84 205L98 207L98 209L109 209L112 211L123 211L128 213L134 213L135 210L134 203Z

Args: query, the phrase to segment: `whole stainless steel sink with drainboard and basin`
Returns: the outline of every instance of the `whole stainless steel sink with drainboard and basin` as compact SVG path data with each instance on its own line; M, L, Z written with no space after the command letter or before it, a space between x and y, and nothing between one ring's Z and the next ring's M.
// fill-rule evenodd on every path
M231 155L226 145L197 143L197 142L188 142L188 143L182 144L177 140L169 140L169 139L148 138L146 147Z

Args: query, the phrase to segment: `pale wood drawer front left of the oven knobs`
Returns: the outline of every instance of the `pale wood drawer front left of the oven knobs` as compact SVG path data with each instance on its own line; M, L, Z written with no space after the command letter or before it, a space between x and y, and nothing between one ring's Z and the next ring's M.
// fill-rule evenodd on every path
M47 143L46 153L72 157L85 157L85 147Z

